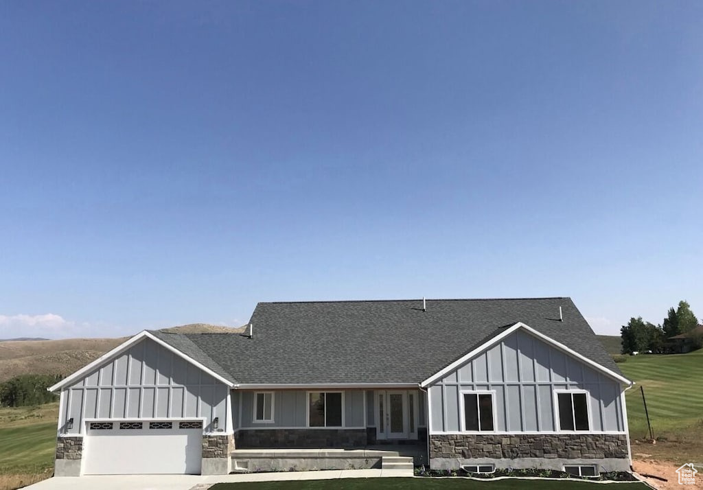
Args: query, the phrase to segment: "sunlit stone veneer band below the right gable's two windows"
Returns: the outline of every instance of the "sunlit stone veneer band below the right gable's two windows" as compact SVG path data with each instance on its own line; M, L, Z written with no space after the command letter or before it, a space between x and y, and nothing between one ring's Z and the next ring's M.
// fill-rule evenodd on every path
M628 458L626 434L434 434L432 458Z

